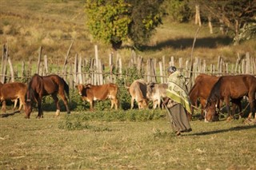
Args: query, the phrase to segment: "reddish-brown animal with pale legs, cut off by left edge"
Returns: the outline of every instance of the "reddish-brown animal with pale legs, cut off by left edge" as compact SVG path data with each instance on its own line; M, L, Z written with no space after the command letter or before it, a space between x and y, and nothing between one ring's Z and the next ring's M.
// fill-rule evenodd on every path
M2 84L0 82L0 101L2 101L2 112L6 112L6 100L14 101L14 109L18 99L20 100L18 111L24 108L26 96L26 84L21 82L10 82Z

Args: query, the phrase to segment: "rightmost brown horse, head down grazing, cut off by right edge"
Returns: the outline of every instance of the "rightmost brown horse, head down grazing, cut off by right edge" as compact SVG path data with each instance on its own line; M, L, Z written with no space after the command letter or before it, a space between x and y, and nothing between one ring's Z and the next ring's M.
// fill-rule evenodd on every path
M223 76L218 79L206 101L205 121L213 121L216 116L218 101L226 102L228 117L230 116L229 101L238 101L247 96L250 103L250 115L255 113L256 78L252 75Z

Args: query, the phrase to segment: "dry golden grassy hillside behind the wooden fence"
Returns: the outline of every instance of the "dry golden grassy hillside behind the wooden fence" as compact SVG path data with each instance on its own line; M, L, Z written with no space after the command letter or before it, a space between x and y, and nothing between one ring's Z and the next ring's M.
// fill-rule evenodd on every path
M14 62L28 58L36 61L40 46L42 54L46 54L52 62L62 61L72 41L71 60L75 53L82 57L94 57L95 44L103 61L112 51L110 45L94 42L88 33L83 1L2 0L0 4L0 49L3 44L8 44ZM174 56L175 59L190 58L197 29L198 26L193 23L171 23L165 18L148 45L136 53L145 58L162 58L163 55ZM236 61L237 53L243 55L250 52L251 56L255 56L255 49L255 41L233 46L232 39L221 35L218 27L214 28L214 34L208 34L205 23L199 30L194 57L203 57L212 63L217 61L218 56L222 56L224 61ZM126 44L118 53L126 61L130 50L129 44Z

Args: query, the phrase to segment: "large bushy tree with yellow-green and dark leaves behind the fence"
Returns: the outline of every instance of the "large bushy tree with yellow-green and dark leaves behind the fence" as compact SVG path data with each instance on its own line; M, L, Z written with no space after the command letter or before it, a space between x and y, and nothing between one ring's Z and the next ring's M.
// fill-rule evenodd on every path
M130 39L139 46L146 42L161 23L158 0L87 0L86 16L90 33L114 49Z

